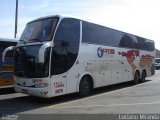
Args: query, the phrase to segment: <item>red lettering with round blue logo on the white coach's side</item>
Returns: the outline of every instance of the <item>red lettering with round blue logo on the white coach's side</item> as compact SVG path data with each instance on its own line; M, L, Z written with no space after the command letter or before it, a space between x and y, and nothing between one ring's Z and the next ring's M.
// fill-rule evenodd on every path
M106 54L106 55L113 55L115 54L115 50L114 49L107 49L107 48L102 48L102 47L99 47L97 49L97 55L99 58L103 57L103 55Z

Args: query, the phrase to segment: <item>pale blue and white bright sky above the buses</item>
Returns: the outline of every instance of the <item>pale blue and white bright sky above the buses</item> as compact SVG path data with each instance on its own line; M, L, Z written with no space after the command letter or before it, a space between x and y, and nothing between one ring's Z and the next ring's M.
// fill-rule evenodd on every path
M0 38L14 38L16 0L0 0ZM155 41L160 50L160 0L19 0L18 33L49 15L76 17Z

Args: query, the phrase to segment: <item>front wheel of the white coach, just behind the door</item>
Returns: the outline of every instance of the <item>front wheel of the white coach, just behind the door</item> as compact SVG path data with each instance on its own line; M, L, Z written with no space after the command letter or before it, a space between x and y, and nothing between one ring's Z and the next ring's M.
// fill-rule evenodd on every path
M85 76L82 78L80 85L79 85L79 94L80 96L84 97L91 93L92 91L92 82L91 80Z

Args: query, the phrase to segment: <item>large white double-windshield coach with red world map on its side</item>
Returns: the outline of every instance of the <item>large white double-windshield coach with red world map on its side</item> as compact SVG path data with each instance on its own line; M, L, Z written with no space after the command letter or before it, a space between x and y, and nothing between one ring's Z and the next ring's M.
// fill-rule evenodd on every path
M15 53L15 91L44 98L137 84L155 71L154 41L60 15L27 23L8 50Z

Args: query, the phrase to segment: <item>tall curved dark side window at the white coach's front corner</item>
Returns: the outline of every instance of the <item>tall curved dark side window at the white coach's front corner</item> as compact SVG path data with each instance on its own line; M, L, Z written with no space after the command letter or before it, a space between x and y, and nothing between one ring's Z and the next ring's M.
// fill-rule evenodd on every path
M74 64L79 50L80 21L65 18L61 21L52 49L51 74L62 74Z

